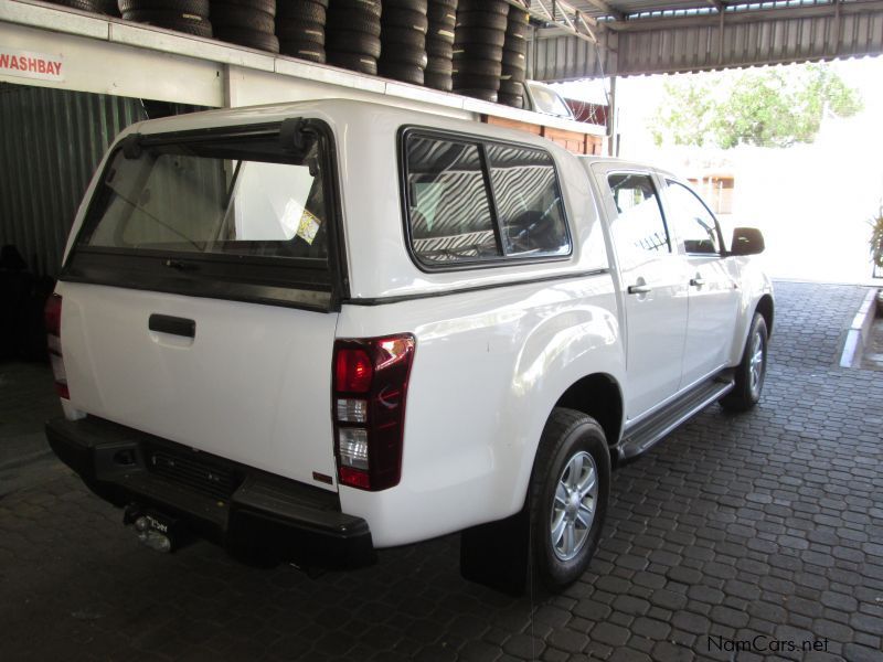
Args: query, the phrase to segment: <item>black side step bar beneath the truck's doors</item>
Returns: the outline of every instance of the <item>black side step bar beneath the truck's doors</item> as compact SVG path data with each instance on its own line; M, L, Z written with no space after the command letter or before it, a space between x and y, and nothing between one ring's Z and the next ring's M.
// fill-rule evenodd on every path
M726 395L735 385L731 371L700 384L669 406L627 427L618 447L619 465L625 465L649 450L682 423Z

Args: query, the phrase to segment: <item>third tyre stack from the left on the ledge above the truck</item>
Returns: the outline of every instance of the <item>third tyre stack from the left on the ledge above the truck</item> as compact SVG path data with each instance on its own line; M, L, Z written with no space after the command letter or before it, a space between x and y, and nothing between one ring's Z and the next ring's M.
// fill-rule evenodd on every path
M232 44L279 52L276 0L212 0L215 39Z

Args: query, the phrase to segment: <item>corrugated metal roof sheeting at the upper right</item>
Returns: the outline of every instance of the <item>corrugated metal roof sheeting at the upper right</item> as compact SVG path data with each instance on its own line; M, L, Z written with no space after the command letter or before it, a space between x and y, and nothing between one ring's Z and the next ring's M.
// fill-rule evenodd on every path
M530 2L534 15L550 8ZM883 53L883 0L572 0L556 9L568 21L536 30L531 44L530 75L541 81ZM577 11L592 19L579 35Z

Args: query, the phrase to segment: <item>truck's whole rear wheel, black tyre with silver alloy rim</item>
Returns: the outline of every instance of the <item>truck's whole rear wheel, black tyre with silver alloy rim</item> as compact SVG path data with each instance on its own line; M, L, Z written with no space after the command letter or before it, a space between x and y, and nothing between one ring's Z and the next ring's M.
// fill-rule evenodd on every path
M604 430L582 412L552 410L540 439L530 487L533 570L553 591L588 568L610 490Z

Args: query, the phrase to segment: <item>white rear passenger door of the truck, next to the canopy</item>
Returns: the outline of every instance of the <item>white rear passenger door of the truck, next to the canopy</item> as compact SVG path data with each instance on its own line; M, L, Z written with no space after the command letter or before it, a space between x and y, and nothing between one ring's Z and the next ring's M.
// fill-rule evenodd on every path
M593 170L610 220L625 298L626 416L634 420L678 392L687 278L652 174L607 163L595 163Z

